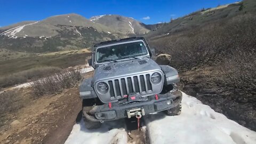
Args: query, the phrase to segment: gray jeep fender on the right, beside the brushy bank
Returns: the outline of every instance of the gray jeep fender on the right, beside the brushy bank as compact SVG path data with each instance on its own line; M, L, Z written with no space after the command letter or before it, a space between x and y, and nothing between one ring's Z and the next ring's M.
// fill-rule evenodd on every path
M167 65L159 65L164 72L164 85L169 85L173 83L180 82L180 77L178 75L178 71Z

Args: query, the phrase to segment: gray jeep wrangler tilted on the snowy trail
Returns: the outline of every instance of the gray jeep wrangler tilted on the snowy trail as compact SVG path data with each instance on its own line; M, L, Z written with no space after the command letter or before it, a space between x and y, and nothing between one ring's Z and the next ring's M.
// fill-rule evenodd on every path
M92 46L88 60L94 74L79 88L82 114L87 129L97 129L104 121L131 118L166 111L181 113L182 93L176 69L158 65L143 37L102 42Z

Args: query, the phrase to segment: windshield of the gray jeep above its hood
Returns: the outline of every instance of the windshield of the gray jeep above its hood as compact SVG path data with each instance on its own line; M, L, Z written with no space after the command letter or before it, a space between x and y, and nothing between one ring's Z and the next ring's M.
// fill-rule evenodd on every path
M97 62L116 61L147 55L148 50L142 41L100 47L97 49Z

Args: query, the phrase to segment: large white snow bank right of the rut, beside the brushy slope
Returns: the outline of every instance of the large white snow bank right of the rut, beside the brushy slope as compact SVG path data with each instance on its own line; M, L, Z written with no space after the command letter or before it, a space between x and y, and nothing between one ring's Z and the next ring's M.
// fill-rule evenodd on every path
M256 143L256 132L183 93L180 116L149 115L150 143Z

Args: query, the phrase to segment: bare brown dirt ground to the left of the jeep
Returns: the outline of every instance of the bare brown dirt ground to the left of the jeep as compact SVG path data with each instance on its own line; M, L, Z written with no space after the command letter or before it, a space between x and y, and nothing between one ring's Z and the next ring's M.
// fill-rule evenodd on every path
M92 76L93 72L84 74ZM7 115L0 127L0 143L64 143L81 111L78 86L35 98L29 89L19 93L22 107Z

